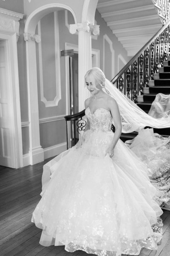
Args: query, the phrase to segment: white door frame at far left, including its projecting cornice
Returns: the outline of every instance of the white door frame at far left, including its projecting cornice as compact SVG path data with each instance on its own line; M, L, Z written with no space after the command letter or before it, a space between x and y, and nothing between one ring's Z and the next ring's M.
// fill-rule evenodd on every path
M7 44L8 79L11 98L11 151L13 152L12 168L23 167L23 144L20 113L20 89L18 76L17 39L19 36L19 20L23 15L0 8L0 39Z

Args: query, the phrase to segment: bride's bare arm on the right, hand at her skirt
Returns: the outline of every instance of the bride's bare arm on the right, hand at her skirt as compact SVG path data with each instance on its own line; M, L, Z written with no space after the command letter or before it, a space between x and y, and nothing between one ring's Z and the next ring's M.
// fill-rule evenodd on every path
M112 142L112 149L116 146L116 143L119 140L119 137L122 133L122 122L121 122L121 117L120 117L120 112L119 112L119 107L117 105L117 102L115 99L111 98L108 101L109 108L111 110L111 114L113 117L114 121L114 126L115 126L115 133L113 137L113 142Z

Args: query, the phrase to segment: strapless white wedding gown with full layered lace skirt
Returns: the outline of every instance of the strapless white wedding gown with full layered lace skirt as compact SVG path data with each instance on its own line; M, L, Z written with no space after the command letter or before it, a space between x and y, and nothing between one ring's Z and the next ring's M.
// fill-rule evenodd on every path
M147 166L119 139L111 158L110 111L85 111L91 128L82 139L44 166L42 198L32 222L42 229L40 244L65 245L98 256L138 255L157 249L162 210L153 198Z

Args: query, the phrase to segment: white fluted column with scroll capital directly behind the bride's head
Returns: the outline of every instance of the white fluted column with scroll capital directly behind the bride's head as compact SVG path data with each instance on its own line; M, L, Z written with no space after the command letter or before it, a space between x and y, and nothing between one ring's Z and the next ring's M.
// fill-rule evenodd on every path
M92 68L91 54L91 31L94 35L99 35L99 25L93 25L88 22L70 25L70 33L79 32L79 111L85 106L85 99L90 97L89 91L85 88L85 73Z

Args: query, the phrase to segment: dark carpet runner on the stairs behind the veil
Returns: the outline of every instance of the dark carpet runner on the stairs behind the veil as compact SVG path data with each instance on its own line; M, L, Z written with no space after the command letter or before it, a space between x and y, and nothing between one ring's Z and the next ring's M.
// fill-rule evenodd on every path
M158 93L170 94L170 56L167 57L167 61L163 62L163 67L159 67L159 73L154 74L154 80L149 81L149 87L144 88L143 102L137 103L139 108L142 108L144 112L148 113ZM153 131L164 137L170 136L170 128L153 128ZM137 132L121 134L120 138L125 142L126 140L133 139L137 134Z

